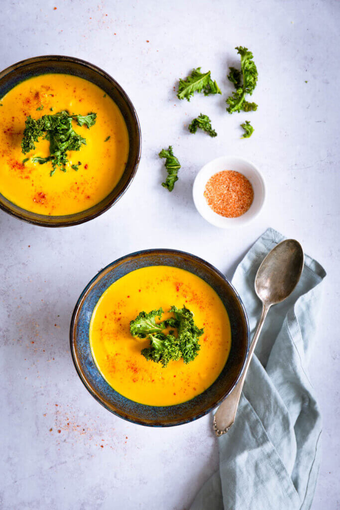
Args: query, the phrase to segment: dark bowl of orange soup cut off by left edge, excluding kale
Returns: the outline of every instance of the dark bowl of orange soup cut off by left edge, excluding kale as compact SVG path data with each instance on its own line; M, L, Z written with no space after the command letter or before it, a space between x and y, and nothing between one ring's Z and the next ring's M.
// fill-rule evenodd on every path
M39 121L60 112L72 116L72 134L83 140L80 149L67 145L67 161L56 165L63 143L42 132L23 154L28 117ZM77 121L93 113L93 125ZM88 221L122 196L137 171L136 111L109 74L83 60L50 55L2 71L0 118L0 208L21 220L51 227Z

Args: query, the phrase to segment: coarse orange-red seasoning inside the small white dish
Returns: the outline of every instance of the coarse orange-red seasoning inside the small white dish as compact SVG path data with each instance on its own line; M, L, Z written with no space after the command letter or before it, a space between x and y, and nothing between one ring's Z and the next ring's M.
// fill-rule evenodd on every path
M215 213L226 218L237 218L250 208L254 191L242 173L223 170L210 177L205 185L204 196Z

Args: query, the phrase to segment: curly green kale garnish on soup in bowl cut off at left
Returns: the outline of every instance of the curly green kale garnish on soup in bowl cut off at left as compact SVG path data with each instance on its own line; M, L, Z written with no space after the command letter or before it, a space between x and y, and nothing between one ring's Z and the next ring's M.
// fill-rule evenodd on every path
M49 141L50 156L47 158L36 156L32 161L41 165L50 161L53 166L50 175L55 173L57 166L65 172L65 165L68 162L66 152L68 150L80 150L82 145L86 145L86 139L74 131L72 119L75 119L79 125L85 124L90 128L96 122L96 114L70 115L67 111L63 110L54 115L43 115L37 120L28 116L21 142L23 154L34 150L35 143L39 141L40 137L43 137ZM74 167L72 166L72 168Z

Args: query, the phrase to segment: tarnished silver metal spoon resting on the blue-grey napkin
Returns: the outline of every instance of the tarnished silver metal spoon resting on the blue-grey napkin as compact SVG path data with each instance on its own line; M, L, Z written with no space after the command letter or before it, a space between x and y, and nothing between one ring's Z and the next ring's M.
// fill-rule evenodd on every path
M262 261L255 276L255 292L263 303L260 320L251 342L243 373L232 392L221 403L214 416L216 436L225 434L236 418L237 408L247 371L258 337L272 304L286 299L299 282L303 269L303 250L294 239L277 244Z

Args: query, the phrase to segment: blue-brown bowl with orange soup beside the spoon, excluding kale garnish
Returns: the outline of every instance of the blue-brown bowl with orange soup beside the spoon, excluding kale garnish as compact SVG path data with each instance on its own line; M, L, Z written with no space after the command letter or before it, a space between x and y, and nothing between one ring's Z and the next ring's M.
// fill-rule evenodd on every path
M130 334L141 312L185 306L203 328L196 358L147 360L147 338ZM186 252L153 249L123 257L87 285L70 327L73 362L92 396L125 420L172 426L216 407L236 385L249 349L242 301L211 264Z

